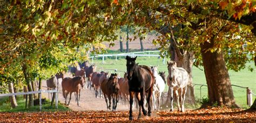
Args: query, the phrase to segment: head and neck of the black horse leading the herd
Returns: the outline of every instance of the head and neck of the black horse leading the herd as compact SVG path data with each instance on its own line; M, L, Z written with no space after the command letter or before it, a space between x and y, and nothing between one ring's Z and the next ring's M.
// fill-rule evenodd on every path
M127 78L128 78L128 80L132 79L132 75L133 75L134 70L137 66L137 64L135 62L136 58L137 58L137 56L136 57L126 56L126 69L127 69Z

